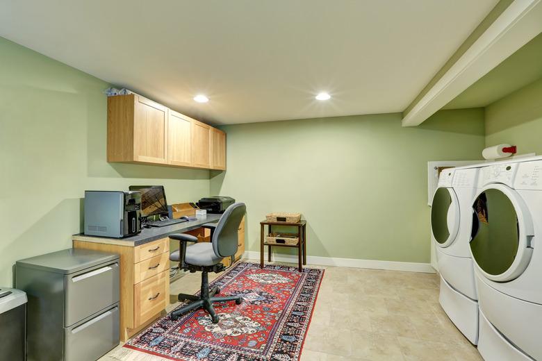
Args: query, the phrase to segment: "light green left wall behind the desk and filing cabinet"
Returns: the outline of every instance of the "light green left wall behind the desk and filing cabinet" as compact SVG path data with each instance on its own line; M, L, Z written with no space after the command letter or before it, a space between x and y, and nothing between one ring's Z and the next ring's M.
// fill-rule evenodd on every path
M15 260L71 246L84 190L208 195L208 171L106 162L107 83L1 37L0 54L0 286Z

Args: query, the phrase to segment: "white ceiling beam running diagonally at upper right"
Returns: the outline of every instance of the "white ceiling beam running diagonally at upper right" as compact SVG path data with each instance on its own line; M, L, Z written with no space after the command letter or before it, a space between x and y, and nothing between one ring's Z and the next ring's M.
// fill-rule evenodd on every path
M402 119L418 126L542 33L542 1L515 0Z

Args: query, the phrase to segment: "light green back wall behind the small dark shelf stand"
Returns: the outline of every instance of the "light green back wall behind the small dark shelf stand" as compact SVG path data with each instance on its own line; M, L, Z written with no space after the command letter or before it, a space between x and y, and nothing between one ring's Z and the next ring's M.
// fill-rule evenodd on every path
M476 160L482 109L445 110L416 128L401 115L224 126L227 171L211 194L247 203L247 249L272 211L302 212L308 253L429 262L427 161Z

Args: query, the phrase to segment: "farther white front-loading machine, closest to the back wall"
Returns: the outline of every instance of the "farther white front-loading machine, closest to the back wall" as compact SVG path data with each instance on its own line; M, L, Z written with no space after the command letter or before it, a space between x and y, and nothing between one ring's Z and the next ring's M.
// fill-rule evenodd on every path
M439 301L448 317L473 344L478 341L478 303L469 242L478 169L445 169L431 208L432 240L441 273Z

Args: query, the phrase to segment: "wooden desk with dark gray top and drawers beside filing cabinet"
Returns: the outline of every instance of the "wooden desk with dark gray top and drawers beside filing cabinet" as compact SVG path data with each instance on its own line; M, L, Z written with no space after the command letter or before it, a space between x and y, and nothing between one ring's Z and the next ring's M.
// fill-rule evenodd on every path
M139 235L102 238L74 235L74 248L120 255L120 338L124 342L163 314L170 302L170 239L172 233L202 234L202 224L220 219L207 215L161 228L143 228Z

